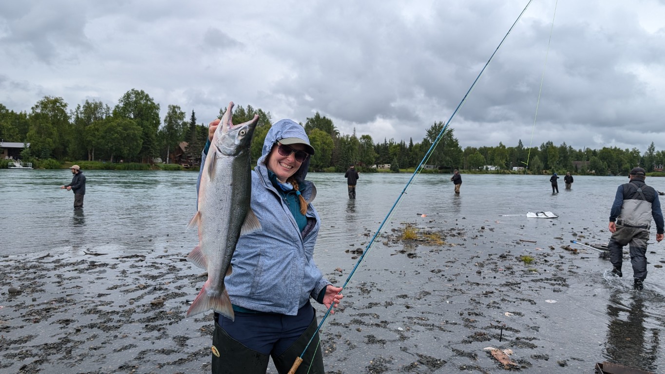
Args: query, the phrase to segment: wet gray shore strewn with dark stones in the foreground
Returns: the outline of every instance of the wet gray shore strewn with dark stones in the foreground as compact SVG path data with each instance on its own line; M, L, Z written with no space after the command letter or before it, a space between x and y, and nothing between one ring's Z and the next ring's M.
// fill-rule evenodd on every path
M593 373L606 317L578 318L579 300L606 304L599 293L628 281L603 278L609 262L570 240L608 235L559 220L525 230L523 219L418 218L409 222L415 240L402 240L406 225L395 223L321 331L327 373L508 370L487 347L511 349L510 370ZM372 234L345 240L338 260L319 264L334 284ZM211 313L185 318L205 275L183 255L0 258L0 373L209 373ZM662 256L648 257L650 274L660 272Z

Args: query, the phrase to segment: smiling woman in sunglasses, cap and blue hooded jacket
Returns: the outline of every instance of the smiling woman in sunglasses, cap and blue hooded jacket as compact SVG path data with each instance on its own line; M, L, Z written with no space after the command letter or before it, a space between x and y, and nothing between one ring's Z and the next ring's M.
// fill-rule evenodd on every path
M233 126L231 108L232 104L226 113L228 118L225 114L221 122L210 123L204 158L210 157L209 149L214 147L217 128L229 126L230 133L233 128L249 123ZM249 132L251 136L253 127ZM311 205L316 188L305 176L314 153L303 126L291 120L273 124L265 138L263 153L251 171L251 199L244 220L244 226L248 225L247 221L257 220L260 227L257 229L254 223L252 229L245 231L243 226L232 253L231 266L221 282L221 296L210 296L224 299L223 294L227 292L231 308L224 306L223 300L220 304L200 302L205 306L192 313L195 300L188 312L188 315L209 309L216 312L213 373L263 374L269 357L280 373L286 373L317 330L310 298L328 308L331 304L337 306L342 299L339 294L342 288L332 286L313 260L321 220ZM215 178L223 177L219 174ZM229 181L229 184L234 183L243 182ZM203 179L199 187L199 211L201 189ZM201 262L210 268L209 261ZM208 282L203 288L206 286ZM205 294L205 290L201 290L201 294ZM207 297L201 294L198 298ZM318 336L302 358L297 373L325 373Z

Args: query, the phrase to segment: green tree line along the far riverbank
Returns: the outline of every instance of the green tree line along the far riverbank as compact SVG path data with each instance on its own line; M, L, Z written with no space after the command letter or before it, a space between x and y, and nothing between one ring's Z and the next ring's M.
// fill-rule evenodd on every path
M219 118L225 112L220 108ZM238 106L233 122L239 124L259 115L259 124L251 144L253 159L261 156L263 140L273 122L270 112L252 106ZM394 171L417 167L428 150L437 141L444 122L436 122L426 130L424 138L414 143L410 139L393 139L375 143L369 135L340 134L330 118L318 112L301 123L317 154L311 159L313 171L344 171L348 165L358 165L363 171L372 165L390 164ZM69 110L60 97L45 96L30 112L14 112L0 104L0 139L30 143L23 149L21 159L55 159L88 161L118 161L152 163L156 157L170 162L174 151L185 141L184 157L197 161L207 140L207 125L198 124L192 110L189 118L178 105L170 104L164 120L160 118L160 104L143 90L126 92L114 108L96 100L86 100ZM654 143L644 153L639 149L573 149L563 143L551 141L539 147L525 147L521 140L507 147L499 143L493 147L460 146L454 129L446 128L428 159L428 169L496 169L512 171L524 168L527 173L571 171L576 174L623 175L640 165L647 172L665 164L665 152L656 151ZM520 169L521 170L521 169ZM524 171L522 171L524 172Z

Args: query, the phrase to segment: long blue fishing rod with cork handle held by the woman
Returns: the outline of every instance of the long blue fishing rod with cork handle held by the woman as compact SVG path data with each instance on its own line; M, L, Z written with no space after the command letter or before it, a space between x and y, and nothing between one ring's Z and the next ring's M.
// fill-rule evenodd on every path
M446 129L448 129L448 125L450 125L450 122L452 121L452 119L455 117L455 115L460 110L460 108L462 108L462 105L464 105L464 102L466 102L467 97L469 96L469 94L471 94L471 91L475 87L475 84L477 84L477 82L480 79L480 77L482 76L483 72L485 72L485 68L487 68L487 66L489 65L489 62L491 62L491 60L494 58L494 55L499 50L501 45L503 45L503 42L508 37L510 32L513 31L513 27L515 27L515 25L517 25L517 22L519 21L519 19L521 19L522 15L524 15L524 13L527 11L527 8L529 7L529 5L531 4L532 1L533 0L529 0L529 2L524 7L524 9L522 9L521 13L519 13L519 16L517 16L517 19L515 19L515 22L513 23L513 25L510 27L510 29L508 29L508 32L503 36L503 39L501 39L501 42L499 43L499 45L497 45L494 52L492 52L491 56L489 56L489 59L487 60L487 62L485 62L485 66L483 66L483 68L480 70L478 76L475 77L475 80L473 80L473 83L471 84L471 87L469 87L469 90L467 90L466 94L464 94L464 98L462 98L462 101L460 102L460 104L458 104L458 106L457 106L457 108L455 108L453 114L450 116L450 118L448 118L448 122L446 122L444 127L441 129L438 136L436 137L436 140L434 140L432 142L432 145L430 146L430 149L428 149L427 153L425 153L424 157L422 158L422 160L420 161L420 163L418 164L418 166L414 170L414 173L411 175L410 179L408 180L408 182L404 186L404 189L402 189L402 192L400 193L400 195L397 197L395 203L390 208L390 211L388 211L388 214L386 215L386 218L384 218L384 220L380 223L378 229L376 229L376 232L374 233L374 236L372 236L372 240L370 240L370 242L367 244L367 246L365 247L364 252L362 252L362 255L358 258L358 261L356 262L355 266L353 266L353 269L348 274L348 278L346 278L346 281L344 281L344 284L342 285L342 291L344 291L344 288L346 288L346 285L348 284L348 282L350 282L351 277L355 274L355 272L358 269L358 266L360 266L360 263L362 262L362 260L369 253L370 248L372 247L372 244L374 244L374 241L376 240L378 234L381 232L381 229L383 229L386 222L389 221L390 217L393 214L393 211L394 211L395 207L398 205L398 203L400 202L402 197L406 194L406 190L410 187L410 185L413 182L416 175L418 175L420 173L420 171L422 171L422 167L423 167L424 163L430 158L430 156L432 155L432 152L434 151L434 148L436 148L436 145L438 145L439 141L443 138L444 132L446 131ZM341 294L342 291L340 291L338 294ZM293 366L291 367L291 370L289 370L288 374L295 374L295 371L298 369L300 364L303 362L303 356L305 355L305 352L307 352L307 349L309 349L309 345L312 343L314 338L318 335L319 330L321 330L321 327L325 323L328 316L331 314L331 311L332 311L333 307L334 307L334 301L331 302L331 306L329 306L328 310L326 311L326 314L324 314L323 318L321 319L321 322L319 322L319 326L317 326L317 329L312 334L312 337L307 342L307 345L305 345L305 349L303 349L303 353L301 353L299 357L296 357L295 362L293 363ZM318 349L318 345L317 345L317 349Z

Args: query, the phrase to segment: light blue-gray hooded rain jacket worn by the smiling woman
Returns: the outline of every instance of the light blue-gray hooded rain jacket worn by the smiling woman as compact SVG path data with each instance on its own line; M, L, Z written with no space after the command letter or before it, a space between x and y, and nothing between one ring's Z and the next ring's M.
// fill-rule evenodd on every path
M310 297L317 300L331 282L323 278L313 258L321 227L319 214L310 204L303 237L265 167L273 144L291 137L309 140L303 126L291 120L273 124L265 137L261 157L251 173L250 205L261 222L261 230L240 236L231 260L233 272L225 278L225 285L236 306L295 316ZM294 175L307 201L315 191L313 183L305 181L308 168L309 157Z

